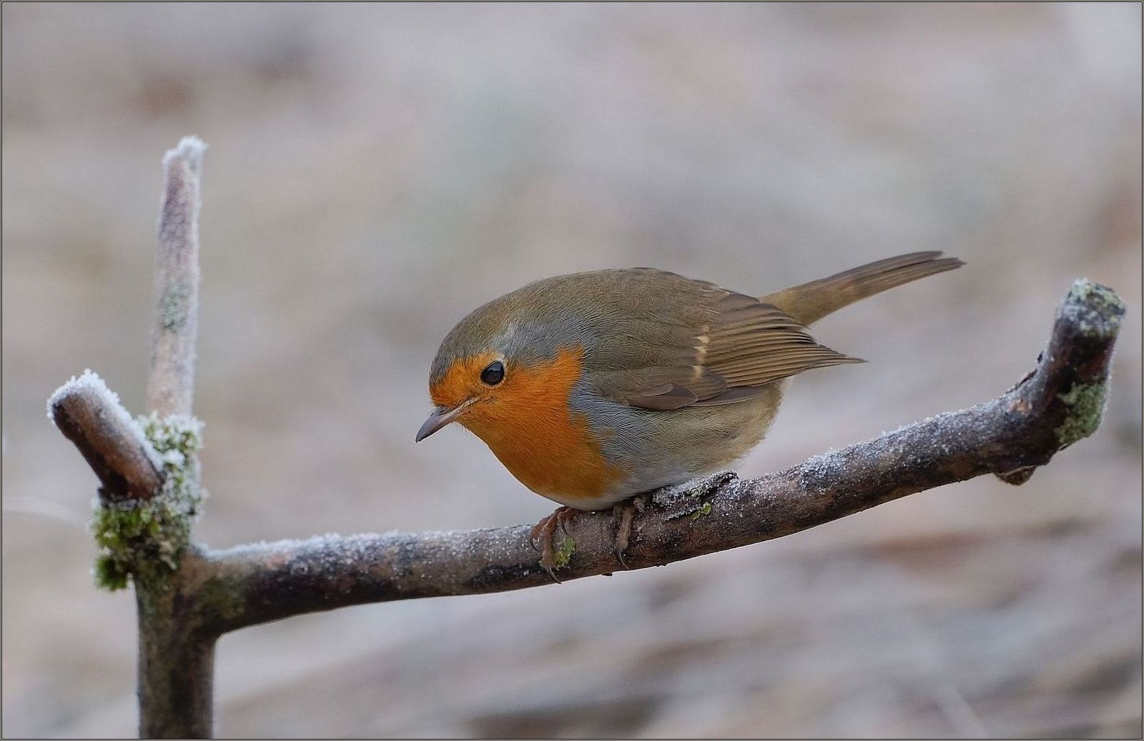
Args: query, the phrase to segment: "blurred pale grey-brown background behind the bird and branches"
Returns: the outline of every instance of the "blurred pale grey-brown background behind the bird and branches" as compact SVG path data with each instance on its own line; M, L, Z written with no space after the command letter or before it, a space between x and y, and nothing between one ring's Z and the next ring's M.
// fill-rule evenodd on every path
M1080 276L1128 316L1099 433L613 578L225 637L233 736L1096 736L1141 728L1141 8L10 5L2 9L3 732L135 732L133 599L45 419L85 368L143 407L160 158L210 145L200 537L534 522L451 427L438 342L558 273L764 293L967 261L831 317L746 475L991 399Z

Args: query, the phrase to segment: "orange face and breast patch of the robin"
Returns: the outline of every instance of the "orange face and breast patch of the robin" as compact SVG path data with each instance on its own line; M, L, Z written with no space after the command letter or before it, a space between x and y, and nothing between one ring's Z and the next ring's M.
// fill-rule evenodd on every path
M577 347L530 366L506 360L505 380L486 386L480 371L499 356L483 353L454 362L430 395L434 403L450 408L476 397L458 421L480 437L521 483L575 506L578 500L604 496L623 475L601 454L587 418L569 405L582 357L583 349Z

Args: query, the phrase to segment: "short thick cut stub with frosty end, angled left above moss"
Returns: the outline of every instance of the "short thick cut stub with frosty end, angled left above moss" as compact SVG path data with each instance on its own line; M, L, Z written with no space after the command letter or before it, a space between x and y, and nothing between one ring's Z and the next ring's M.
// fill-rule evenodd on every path
M48 418L84 454L104 502L150 499L162 486L162 462L119 397L84 371L48 400Z

